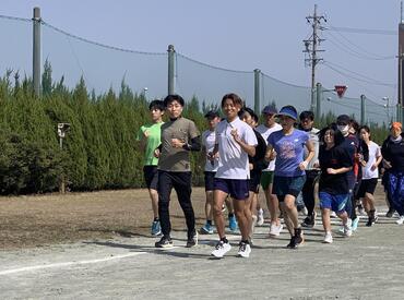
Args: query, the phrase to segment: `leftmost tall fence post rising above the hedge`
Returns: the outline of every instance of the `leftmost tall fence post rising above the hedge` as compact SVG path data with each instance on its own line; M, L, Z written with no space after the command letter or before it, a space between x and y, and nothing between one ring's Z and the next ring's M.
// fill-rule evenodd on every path
M33 14L33 82L36 96L40 95L40 9Z

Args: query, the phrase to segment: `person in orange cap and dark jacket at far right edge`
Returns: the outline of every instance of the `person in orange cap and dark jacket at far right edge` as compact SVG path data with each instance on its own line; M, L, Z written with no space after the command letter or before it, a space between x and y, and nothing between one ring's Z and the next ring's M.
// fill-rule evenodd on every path
M383 142L381 154L388 171L387 188L394 209L400 217L396 224L404 224L404 133L400 122L390 127L390 135Z

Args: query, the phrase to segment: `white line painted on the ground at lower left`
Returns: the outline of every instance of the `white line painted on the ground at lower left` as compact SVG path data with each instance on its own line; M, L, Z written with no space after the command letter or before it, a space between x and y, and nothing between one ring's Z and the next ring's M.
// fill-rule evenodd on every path
M9 275L9 274L14 274L14 273L20 273L20 272L37 271L37 269L43 269L43 268L96 264L96 263L102 263L102 262L108 262L108 261L114 261L114 260L121 260L121 259L126 259L126 257L136 256L136 255L140 255L140 254L146 254L146 253L147 252L135 252L135 253L127 253L127 254L115 255L115 256L109 256L109 257L98 259L98 260L64 262L64 263L55 263L55 264L47 264L47 265L34 265L34 266L19 267L19 268L0 271L0 275Z

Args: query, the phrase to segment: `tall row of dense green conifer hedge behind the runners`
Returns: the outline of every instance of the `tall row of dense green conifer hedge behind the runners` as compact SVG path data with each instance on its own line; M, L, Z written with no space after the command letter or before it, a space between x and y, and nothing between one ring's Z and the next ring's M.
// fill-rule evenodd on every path
M8 71L0 77L0 194L57 191L64 175L72 191L144 187L143 153L136 142L139 128L151 122L148 103L122 82L119 93L96 95L83 79L68 88L63 77L54 81L46 62L41 96L36 97L32 79L20 80ZM188 101L183 116L202 132L206 124L197 97ZM322 123L334 116L324 116ZM71 124L59 147L57 125ZM377 142L387 135L376 130ZM194 184L202 184L204 157L192 154Z

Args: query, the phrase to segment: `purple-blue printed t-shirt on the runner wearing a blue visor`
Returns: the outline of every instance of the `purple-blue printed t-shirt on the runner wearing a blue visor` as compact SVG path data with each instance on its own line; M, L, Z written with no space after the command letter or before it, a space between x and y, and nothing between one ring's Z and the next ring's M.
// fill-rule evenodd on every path
M275 131L268 136L268 144L276 152L275 176L295 177L304 176L299 164L304 161L304 149L309 134L294 129L293 133L285 135L283 131Z

